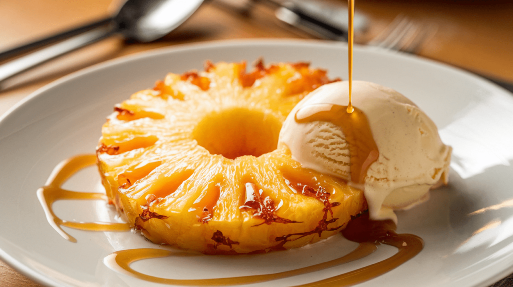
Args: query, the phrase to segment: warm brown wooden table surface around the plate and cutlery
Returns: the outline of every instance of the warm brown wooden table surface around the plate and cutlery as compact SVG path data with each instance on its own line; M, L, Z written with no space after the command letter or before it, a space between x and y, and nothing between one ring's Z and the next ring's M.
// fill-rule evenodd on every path
M71 72L105 60L184 43L245 38L313 37L277 25L272 12L257 7L249 15L213 0L164 39L126 43L110 38L51 61L6 83L0 91L0 115L30 93ZM111 0L2 0L0 51L114 11ZM371 19L362 37L371 37L403 14L418 23L436 25L437 33L419 55L497 79L513 82L513 4L510 1L358 0L356 9ZM1 231L1 232L6 232ZM0 286L40 286L0 261Z

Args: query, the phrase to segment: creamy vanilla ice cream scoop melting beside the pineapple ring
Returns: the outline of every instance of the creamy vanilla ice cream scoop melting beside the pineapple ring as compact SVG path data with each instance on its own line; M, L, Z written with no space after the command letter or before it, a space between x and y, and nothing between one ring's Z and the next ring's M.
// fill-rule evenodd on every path
M297 123L295 114L319 104L347 106L348 82L321 86L310 93L285 120L279 145L303 167L338 176L364 191L373 220L392 219L394 210L409 209L429 198L429 189L447 184L451 147L413 102L387 87L362 81L352 83L352 103L369 122L379 158L367 170L362 185L351 182L349 145L342 129L329 122ZM356 180L354 180L356 181Z

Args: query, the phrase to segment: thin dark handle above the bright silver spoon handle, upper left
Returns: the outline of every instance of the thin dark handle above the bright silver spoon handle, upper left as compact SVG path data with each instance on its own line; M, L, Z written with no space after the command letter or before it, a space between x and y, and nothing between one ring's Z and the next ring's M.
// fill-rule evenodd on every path
M26 52L35 50L37 48L41 48L43 46L46 46L46 45L49 45L49 44L52 44L52 43L55 43L55 42L58 42L61 40L68 39L70 37L73 37L78 34L82 34L84 32L93 30L98 27L106 26L110 23L112 23L112 18L105 18L105 19L97 20L93 23L86 24L81 27L76 27L76 28L73 28L68 31L64 31L64 32L61 32L58 34L48 36L46 38L42 38L42 39L38 39L36 41L32 41L30 43L26 43L25 45L18 46L13 49L10 49L10 50L0 52L0 61L4 61L13 56L16 56L16 55L19 55L22 53L26 53Z

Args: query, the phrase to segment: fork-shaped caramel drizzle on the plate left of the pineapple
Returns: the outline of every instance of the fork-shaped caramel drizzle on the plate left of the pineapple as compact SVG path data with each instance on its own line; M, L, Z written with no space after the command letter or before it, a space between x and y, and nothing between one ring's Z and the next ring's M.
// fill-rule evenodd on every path
M64 190L61 186L77 171L94 165L96 157L93 155L77 156L58 164L50 174L45 186L37 190L37 198L43 207L46 219L50 226L64 239L76 242L76 239L66 233L61 226L86 231L128 231L130 227L124 223L104 222L69 222L58 218L52 210L52 205L61 200L107 200L105 194L75 192Z

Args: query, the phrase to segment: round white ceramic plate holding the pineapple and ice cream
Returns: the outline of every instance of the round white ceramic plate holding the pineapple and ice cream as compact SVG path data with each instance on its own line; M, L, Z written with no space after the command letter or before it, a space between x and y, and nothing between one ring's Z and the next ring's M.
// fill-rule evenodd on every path
M79 153L92 153L115 103L152 87L168 72L201 70L205 60L308 61L347 78L347 50L340 43L232 41L184 46L110 61L58 80L29 96L0 120L0 257L50 286L149 284L108 269L103 258L132 248L161 248L139 235L67 229L64 240L46 222L35 191L53 167ZM487 286L513 272L513 96L478 77L412 56L358 48L354 78L389 86L416 102L453 147L450 185L431 200L399 212L398 233L425 240L412 260L362 286ZM94 168L65 188L101 190ZM68 220L113 220L103 202L58 202ZM475 215L473 212L479 211ZM320 263L356 246L341 236L287 252L260 256L165 258L135 264L167 278L216 278L274 273ZM377 262L385 247L362 260L322 272L259 284L313 282Z

